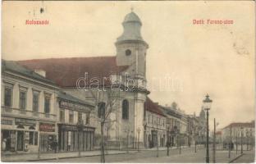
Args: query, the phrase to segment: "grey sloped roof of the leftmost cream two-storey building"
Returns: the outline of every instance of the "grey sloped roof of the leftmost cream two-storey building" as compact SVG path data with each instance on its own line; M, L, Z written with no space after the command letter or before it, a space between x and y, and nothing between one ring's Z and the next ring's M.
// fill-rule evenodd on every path
M40 81L43 81L44 83L55 85L55 83L52 80L48 80L42 75L35 73L33 70L30 70L25 66L21 66L18 62L6 61L2 59L2 71L11 71L16 74L20 74L20 75L24 75L26 77L32 78L34 80L40 80Z

